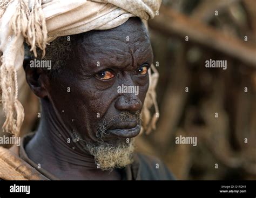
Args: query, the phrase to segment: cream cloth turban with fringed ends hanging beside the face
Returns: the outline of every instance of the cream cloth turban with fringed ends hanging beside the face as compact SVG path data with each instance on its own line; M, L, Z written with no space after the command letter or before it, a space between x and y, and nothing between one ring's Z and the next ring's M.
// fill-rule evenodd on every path
M44 56L46 44L59 36L115 28L135 16L148 20L156 15L160 3L161 0L0 0L0 79L5 131L18 135L24 119L23 107L17 99L17 71L23 64L24 42L36 57L36 47ZM142 112L146 124L151 119L149 108L156 106L154 88L158 79L156 70L149 74L150 87ZM149 128L155 127L157 117L152 118Z

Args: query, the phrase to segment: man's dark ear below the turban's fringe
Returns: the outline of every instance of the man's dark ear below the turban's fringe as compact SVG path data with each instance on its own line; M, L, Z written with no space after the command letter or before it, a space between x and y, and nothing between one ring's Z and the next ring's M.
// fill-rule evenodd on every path
M24 58L23 68L26 74L26 81L33 93L40 98L45 98L48 96L49 78L42 68L30 67L32 61L34 60L31 57Z

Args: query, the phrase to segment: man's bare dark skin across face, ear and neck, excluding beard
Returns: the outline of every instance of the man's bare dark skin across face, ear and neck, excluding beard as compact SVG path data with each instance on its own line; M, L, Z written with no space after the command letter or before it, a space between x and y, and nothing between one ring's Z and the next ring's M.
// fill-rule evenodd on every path
M40 124L26 153L62 180L120 180L118 169L98 169L84 146L85 142L100 144L96 134L104 120L124 111L133 115L142 110L149 87L147 69L153 59L149 36L140 19L130 18L117 28L77 36L72 45L75 56L56 78L24 62L28 84L42 104ZM139 86L139 94L118 93L122 84ZM137 125L131 116L123 122L115 119L108 127L130 129ZM78 142L67 143L71 132L79 134ZM118 145L136 135L109 134L103 141Z

